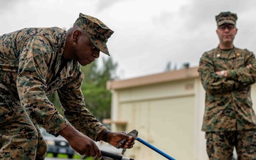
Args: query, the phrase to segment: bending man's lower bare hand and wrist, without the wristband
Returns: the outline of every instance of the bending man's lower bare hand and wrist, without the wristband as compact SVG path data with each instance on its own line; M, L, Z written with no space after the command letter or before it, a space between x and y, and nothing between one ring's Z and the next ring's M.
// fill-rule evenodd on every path
M81 155L85 156L98 156L102 159L100 149L97 147L94 141L89 137L81 134L71 125L68 125L63 130L58 132L62 137L67 139L70 146Z

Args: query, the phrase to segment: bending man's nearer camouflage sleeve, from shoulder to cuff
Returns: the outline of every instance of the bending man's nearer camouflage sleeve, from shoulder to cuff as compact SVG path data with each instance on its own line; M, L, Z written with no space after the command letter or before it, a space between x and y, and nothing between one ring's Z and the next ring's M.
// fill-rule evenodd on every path
M52 50L43 37L29 37L21 48L16 85L21 105L32 121L56 136L68 121L46 96L49 53Z

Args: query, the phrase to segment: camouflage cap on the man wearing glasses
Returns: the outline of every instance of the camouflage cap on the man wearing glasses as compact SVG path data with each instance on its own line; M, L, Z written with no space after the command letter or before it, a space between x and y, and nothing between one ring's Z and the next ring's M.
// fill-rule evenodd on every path
M224 23L230 23L235 25L238 20L236 14L231 13L230 11L220 12L218 16L215 16L217 26L223 25Z

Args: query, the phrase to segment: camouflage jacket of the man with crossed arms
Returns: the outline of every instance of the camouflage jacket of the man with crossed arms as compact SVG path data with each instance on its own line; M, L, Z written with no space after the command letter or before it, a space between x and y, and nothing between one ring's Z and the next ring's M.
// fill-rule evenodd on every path
M252 64L252 68L246 68ZM202 130L225 132L256 129L255 112L250 97L255 83L255 55L234 48L230 54L219 48L203 53L198 73L206 90L206 108ZM228 70L224 78L215 72Z

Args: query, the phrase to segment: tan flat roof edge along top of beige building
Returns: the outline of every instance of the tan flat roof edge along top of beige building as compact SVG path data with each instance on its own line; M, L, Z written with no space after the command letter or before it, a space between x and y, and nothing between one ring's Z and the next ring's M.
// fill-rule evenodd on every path
M197 78L198 67L183 68L181 70L171 70L155 75L146 75L139 78L131 78L127 80L107 81L107 90L120 90L129 87L138 87L142 85L152 85L160 82L169 82L174 80L183 80L188 78Z

